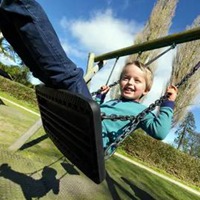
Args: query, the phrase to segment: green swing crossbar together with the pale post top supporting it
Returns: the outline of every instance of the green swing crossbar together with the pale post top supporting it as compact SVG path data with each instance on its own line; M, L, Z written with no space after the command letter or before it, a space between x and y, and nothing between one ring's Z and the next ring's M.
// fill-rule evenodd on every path
M141 44L131 45L99 56L95 56L94 53L90 53L88 56L86 76L84 77L85 82L88 84L88 86L90 85L92 77L103 67L103 62L106 60L159 49L167 46L173 46L174 44L177 45L198 39L200 39L200 27L143 42ZM98 65L95 65L95 63Z

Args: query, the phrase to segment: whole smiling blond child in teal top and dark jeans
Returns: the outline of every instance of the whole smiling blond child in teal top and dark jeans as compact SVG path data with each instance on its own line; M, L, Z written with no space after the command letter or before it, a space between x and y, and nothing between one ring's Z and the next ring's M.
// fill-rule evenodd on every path
M24 63L45 85L66 89L91 98L83 79L83 70L65 54L59 39L44 10L35 0L4 0L0 6L0 30ZM121 99L101 104L106 114L137 115L145 106L139 103L151 89L152 73L135 61L124 67L120 77ZM104 86L102 94L109 88ZM149 113L139 124L149 135L163 139L171 125L173 101L177 89L168 88L169 101L161 105L160 114ZM103 146L106 148L118 135L127 121L103 120Z

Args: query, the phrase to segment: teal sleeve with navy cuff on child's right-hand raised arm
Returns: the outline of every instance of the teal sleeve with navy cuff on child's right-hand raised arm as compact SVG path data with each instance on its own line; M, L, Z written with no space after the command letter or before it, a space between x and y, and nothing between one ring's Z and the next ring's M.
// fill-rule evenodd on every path
M165 101L160 106L159 113L156 115L152 112L147 114L140 122L142 128L151 137L163 140L169 133L173 120L173 101Z

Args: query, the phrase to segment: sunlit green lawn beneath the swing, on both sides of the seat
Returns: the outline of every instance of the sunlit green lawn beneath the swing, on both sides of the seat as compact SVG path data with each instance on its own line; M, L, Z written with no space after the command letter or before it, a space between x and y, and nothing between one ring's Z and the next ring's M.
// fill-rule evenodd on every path
M9 98L9 95L3 95L5 98ZM15 101L14 98L10 100ZM31 108L25 102L15 102ZM28 197L40 197L41 200L199 199L198 196L173 183L116 156L106 161L106 180L96 185L62 157L51 140L46 137L42 128L22 146L21 150L8 151L8 147L26 132L37 119L38 116L19 107L11 104L0 105L0 163L8 164L14 174L13 177L8 178L7 172L0 171L2 200L28 199L25 198L24 193L27 185L31 187L31 192L26 191ZM51 183L52 189L42 194L44 186L41 179L45 178L42 174L45 166L54 170L56 176L51 177L50 180L45 179L46 183ZM18 182L15 181L14 177L18 177ZM57 182L60 184L60 191L55 194L53 189L55 189ZM35 192L33 193L33 191Z

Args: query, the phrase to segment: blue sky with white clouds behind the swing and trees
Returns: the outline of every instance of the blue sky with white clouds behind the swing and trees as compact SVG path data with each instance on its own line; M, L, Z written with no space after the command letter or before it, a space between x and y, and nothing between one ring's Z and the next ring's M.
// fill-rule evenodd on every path
M79 67L86 69L89 53L101 55L133 44L135 35L146 24L156 0L38 0L46 11L55 28L67 55ZM53 3L52 3L53 2ZM170 33L184 31L200 15L199 0L179 0L172 21ZM160 91L171 70L172 57L176 50L159 59L156 82L146 100L146 104L159 98ZM113 80L124 63L125 57L119 60ZM167 62L166 62L167 61ZM91 91L96 91L107 81L112 62L95 75ZM33 79L35 83L37 81ZM112 80L111 82L112 83ZM193 107L195 117L199 118L199 107ZM197 129L200 132L200 127ZM167 138L171 142L173 133Z

